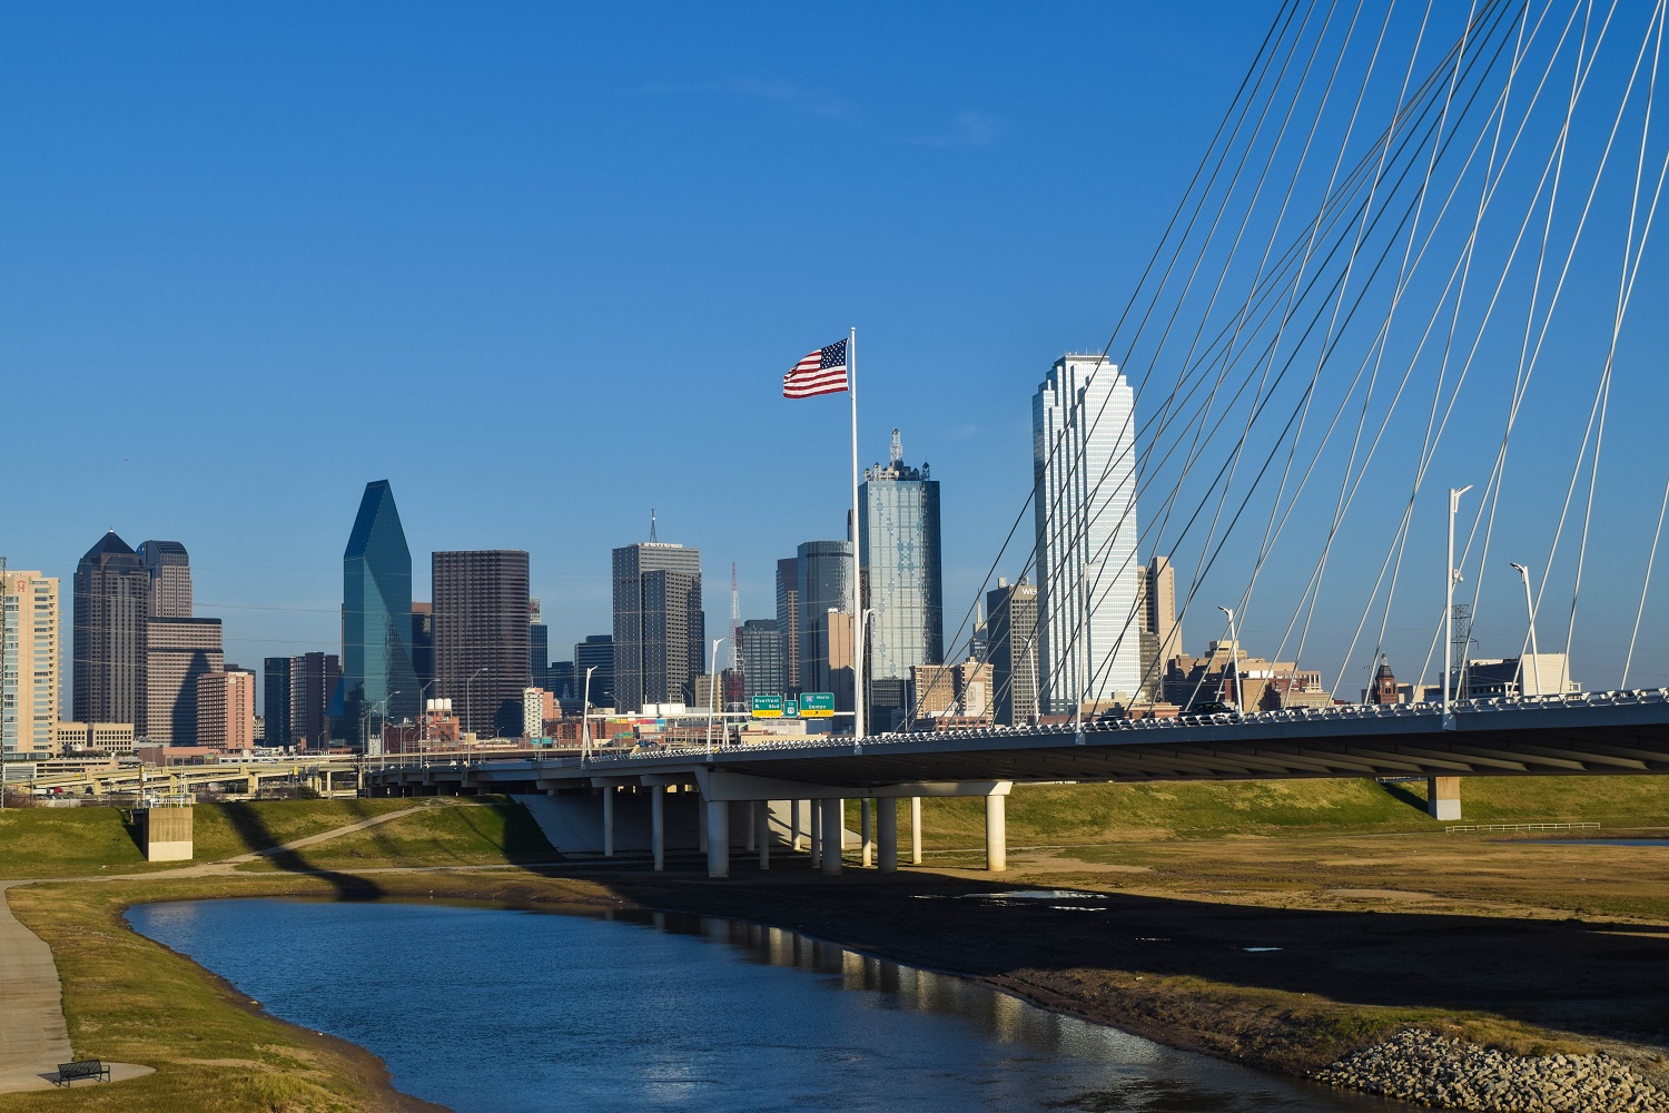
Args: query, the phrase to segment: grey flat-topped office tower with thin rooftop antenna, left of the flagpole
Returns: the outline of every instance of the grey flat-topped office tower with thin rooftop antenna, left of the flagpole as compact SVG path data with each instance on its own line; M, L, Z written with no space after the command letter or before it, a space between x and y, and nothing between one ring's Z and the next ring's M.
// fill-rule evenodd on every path
M693 703L706 662L701 549L646 541L614 549L614 701Z

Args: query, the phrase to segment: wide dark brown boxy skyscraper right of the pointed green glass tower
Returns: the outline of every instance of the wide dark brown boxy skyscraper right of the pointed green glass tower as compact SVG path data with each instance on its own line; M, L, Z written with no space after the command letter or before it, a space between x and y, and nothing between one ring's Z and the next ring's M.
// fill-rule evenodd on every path
M519 738L529 687L527 554L434 554L434 689L466 731Z

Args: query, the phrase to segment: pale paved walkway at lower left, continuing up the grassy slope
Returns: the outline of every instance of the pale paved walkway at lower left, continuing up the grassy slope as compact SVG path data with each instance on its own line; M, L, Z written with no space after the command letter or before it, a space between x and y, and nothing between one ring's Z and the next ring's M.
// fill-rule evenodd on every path
M73 1058L68 1025L63 1020L63 985L58 981L58 968L52 961L52 948L12 914L12 906L7 903L7 889L15 884L37 884L43 881L154 881L159 878L232 873L235 866L244 863L272 858L285 851L352 834L354 831L364 831L366 828L401 819L429 806L432 804L391 811L374 819L362 819L344 828L310 834L284 846L274 846L254 854L239 854L225 861L184 866L180 869L140 874L98 874L90 878L0 881L0 1093L50 1090L58 1075L58 1063L68 1063ZM108 1063L108 1066L110 1081L155 1073L155 1068L130 1063ZM87 1081L80 1085L95 1086L98 1083Z

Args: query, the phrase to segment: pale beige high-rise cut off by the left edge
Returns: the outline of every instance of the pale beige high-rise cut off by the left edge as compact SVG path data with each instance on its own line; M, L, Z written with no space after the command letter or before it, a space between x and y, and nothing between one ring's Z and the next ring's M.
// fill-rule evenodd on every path
M0 559L0 753L53 751L63 654L58 581Z

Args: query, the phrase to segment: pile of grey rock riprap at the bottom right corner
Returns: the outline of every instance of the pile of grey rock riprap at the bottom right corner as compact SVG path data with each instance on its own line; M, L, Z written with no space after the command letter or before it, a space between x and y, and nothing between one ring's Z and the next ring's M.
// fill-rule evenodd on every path
M1602 1051L1509 1055L1420 1028L1405 1028L1310 1078L1447 1110L1669 1113L1669 1091Z

